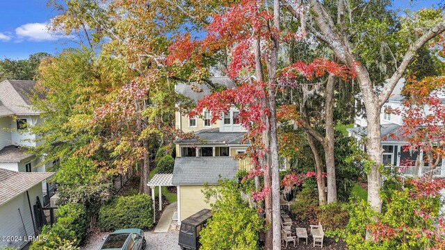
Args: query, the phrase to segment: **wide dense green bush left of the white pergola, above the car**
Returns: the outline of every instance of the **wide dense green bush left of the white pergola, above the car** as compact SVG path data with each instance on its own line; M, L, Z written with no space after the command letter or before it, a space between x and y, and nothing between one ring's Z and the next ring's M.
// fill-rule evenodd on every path
M147 194L115 197L99 211L99 228L115 231L121 228L150 228L153 225L152 198Z

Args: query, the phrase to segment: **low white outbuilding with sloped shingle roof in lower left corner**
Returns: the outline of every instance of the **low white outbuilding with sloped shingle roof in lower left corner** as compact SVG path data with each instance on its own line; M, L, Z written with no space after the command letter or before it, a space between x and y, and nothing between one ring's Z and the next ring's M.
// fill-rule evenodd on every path
M54 173L26 173L0 169L0 248L22 248L38 235L37 199L42 181Z

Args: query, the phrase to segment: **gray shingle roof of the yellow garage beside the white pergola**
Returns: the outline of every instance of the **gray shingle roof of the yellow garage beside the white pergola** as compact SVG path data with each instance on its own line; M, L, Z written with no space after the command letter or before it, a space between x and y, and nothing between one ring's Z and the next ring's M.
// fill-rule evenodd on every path
M232 179L237 172L238 162L232 157L177 157L172 184L218 184L219 178Z

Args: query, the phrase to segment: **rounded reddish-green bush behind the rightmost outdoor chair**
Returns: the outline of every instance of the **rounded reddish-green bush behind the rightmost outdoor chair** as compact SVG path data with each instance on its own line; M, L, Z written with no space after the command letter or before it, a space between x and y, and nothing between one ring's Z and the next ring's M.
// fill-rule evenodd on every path
M348 224L349 213L343 203L332 203L321 206L318 213L318 222L323 228L329 230L343 229Z

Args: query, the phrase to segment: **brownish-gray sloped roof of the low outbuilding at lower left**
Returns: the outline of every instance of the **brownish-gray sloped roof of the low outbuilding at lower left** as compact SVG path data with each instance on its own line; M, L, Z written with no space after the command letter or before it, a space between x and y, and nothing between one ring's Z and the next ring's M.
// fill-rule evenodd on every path
M24 173L0 169L0 206L51 177L54 173Z

